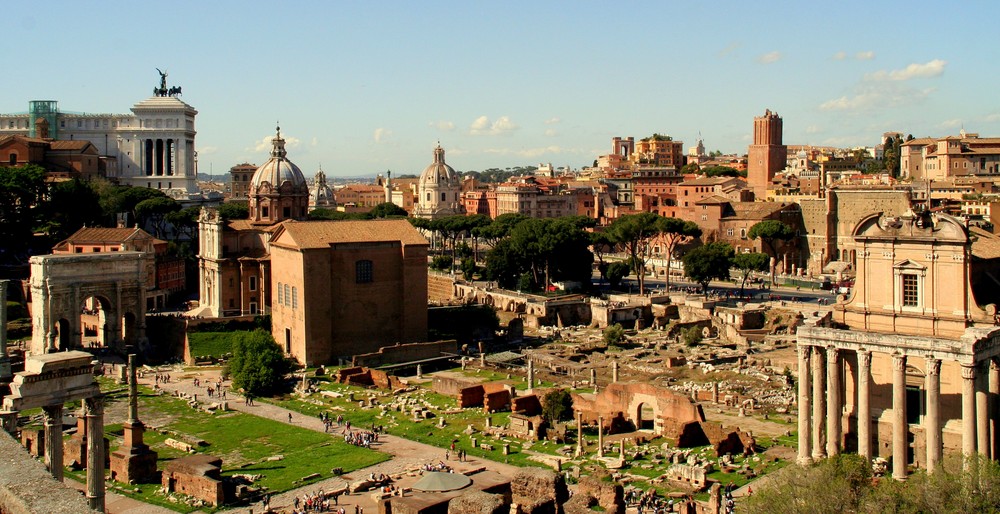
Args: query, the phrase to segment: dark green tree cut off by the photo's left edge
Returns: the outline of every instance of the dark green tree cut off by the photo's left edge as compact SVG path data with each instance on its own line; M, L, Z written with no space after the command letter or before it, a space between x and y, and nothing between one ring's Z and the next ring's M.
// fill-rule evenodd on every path
M19 261L31 243L47 188L35 165L0 167L0 241L3 260Z

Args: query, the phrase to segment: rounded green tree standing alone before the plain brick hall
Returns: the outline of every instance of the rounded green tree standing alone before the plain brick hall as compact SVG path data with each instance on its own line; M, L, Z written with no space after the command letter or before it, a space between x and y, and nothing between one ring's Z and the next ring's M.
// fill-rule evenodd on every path
M252 396L269 396L284 389L291 362L269 332L254 330L234 335L233 358L226 364L233 388Z

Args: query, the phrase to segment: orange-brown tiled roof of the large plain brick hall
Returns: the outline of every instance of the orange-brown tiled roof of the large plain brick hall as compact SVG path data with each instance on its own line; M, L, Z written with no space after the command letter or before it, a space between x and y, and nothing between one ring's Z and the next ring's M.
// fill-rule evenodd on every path
M409 221L343 220L286 221L273 236L274 242L298 248L326 248L336 243L400 241L404 245L427 245L427 240Z

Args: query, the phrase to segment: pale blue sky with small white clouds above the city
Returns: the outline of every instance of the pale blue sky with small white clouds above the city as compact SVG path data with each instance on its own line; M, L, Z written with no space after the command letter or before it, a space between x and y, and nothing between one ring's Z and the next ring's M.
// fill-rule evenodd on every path
M201 173L268 158L311 177L589 166L614 136L747 151L882 133L1000 136L1000 2L435 0L4 6L0 112L128 113L159 84L198 110Z

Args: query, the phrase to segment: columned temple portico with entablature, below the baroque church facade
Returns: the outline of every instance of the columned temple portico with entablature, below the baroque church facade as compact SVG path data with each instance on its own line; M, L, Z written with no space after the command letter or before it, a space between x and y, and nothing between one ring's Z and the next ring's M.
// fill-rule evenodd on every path
M1000 328L949 340L802 327L798 358L800 463L851 449L890 458L902 479L909 464L935 469L945 447L1000 456Z

